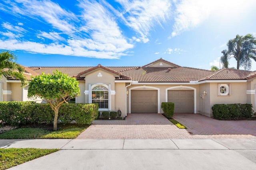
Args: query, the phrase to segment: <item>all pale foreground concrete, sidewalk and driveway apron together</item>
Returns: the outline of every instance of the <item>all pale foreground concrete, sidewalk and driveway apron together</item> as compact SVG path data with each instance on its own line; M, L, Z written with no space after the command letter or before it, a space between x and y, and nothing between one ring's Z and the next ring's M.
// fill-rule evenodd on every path
M1 148L60 148L11 169L255 169L252 139L0 140Z

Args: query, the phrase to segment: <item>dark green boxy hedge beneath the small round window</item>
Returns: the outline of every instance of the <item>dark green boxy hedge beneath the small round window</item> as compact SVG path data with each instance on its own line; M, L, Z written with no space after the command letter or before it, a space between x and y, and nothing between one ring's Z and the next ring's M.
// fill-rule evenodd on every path
M252 104L215 104L212 106L213 117L218 120L250 118L252 113Z

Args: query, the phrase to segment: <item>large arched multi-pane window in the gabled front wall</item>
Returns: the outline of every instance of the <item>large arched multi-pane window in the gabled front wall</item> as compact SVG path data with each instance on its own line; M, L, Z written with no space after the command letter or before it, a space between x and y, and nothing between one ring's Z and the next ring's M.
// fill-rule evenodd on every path
M92 103L98 103L99 109L108 109L108 88L97 85L92 88Z

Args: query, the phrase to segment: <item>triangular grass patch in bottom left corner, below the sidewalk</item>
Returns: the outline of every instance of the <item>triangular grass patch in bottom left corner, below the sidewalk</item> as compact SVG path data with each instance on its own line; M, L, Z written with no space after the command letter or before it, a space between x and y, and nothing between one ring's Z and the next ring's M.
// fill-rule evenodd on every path
M0 170L56 152L59 149L10 148L0 149Z

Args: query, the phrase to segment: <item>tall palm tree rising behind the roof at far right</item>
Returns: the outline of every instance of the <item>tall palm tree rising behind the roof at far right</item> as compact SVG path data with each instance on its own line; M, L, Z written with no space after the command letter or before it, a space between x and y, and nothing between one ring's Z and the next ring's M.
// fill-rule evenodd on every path
M228 68L229 59L234 57L237 61L236 69L244 67L245 70L250 70L252 60L256 61L256 38L252 34L245 36L236 35L236 38L231 39L227 43L228 49L222 51L220 61L225 68Z

